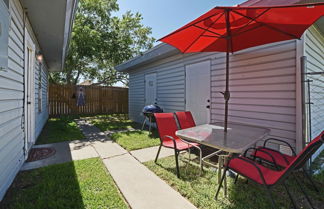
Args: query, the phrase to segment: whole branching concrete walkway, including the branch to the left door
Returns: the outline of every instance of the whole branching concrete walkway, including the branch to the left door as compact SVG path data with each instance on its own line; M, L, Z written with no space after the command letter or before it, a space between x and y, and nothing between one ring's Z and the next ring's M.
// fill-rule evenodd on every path
M127 152L107 137L107 133L83 120L77 120L86 141L63 142L50 145L56 155L40 161L25 163L24 170L55 163L100 157L119 190L133 209L195 209L166 182L141 162L154 160L158 147ZM109 134L109 133L108 133ZM173 150L162 149L160 157L173 155Z

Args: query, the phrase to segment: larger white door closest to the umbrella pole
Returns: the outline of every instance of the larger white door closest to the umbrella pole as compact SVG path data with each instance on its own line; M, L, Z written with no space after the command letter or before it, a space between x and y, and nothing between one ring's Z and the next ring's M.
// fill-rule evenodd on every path
M186 65L186 110L197 125L210 122L210 61Z

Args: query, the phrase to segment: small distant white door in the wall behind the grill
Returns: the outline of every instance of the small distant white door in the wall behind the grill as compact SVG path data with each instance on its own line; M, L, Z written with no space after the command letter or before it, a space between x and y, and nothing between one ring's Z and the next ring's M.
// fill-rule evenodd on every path
M157 104L156 73L145 75L145 105Z

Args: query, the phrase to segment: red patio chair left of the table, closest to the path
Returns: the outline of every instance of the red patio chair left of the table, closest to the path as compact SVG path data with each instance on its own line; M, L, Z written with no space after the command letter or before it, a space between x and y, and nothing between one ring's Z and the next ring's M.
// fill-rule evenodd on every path
M161 141L159 150L155 158L155 162L157 162L158 160L162 146L166 148L174 149L175 161L177 167L177 176L178 178L180 178L179 161L178 161L179 153L181 151L188 150L190 154L190 148L195 147L199 150L201 155L201 149L199 147L199 144L186 142L175 135L175 132L178 130L178 126L173 113L155 113L154 117L156 119L156 125L159 131L160 141Z

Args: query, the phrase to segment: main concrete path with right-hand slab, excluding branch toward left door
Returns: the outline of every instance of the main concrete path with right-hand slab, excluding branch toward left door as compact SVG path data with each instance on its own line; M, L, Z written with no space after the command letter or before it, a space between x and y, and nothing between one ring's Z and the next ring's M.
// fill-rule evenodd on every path
M78 121L86 137L94 138L99 130L84 121ZM100 138L100 136L98 136ZM92 141L119 190L133 209L195 209L187 199L146 168L141 162L155 158L158 147L127 152L108 137ZM163 149L161 157L172 155ZM172 150L171 150L172 151ZM133 156L135 157L133 157ZM138 159L138 160L137 160ZM140 162L141 161L141 162Z

